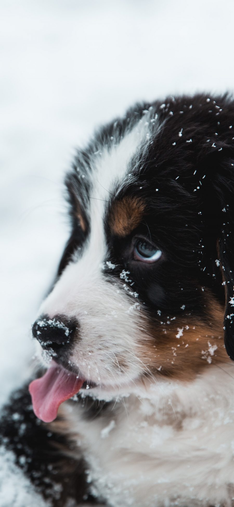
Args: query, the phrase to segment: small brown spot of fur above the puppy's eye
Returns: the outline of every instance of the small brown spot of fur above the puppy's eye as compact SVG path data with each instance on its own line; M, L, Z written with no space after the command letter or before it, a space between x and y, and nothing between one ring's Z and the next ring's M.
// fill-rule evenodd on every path
M110 210L109 225L116 236L128 236L140 223L145 209L141 199L124 197L114 201Z

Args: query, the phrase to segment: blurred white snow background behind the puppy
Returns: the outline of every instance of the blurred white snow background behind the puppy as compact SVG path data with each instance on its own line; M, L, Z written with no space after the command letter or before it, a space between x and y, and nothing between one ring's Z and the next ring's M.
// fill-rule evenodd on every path
M233 19L233 0L1 0L1 404L29 372L75 147L136 100L232 92Z

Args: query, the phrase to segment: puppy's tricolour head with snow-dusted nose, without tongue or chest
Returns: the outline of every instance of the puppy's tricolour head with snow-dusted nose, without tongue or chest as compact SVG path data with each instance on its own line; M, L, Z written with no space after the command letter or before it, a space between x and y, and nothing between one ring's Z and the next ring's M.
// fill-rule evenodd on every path
M136 106L77 154L33 334L95 393L190 380L225 357L224 331L231 354L233 111L205 96Z

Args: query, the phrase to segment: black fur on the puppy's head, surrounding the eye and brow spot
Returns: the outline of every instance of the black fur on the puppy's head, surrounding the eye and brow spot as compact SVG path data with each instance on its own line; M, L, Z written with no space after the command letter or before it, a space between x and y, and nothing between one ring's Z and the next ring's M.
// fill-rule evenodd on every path
M152 141L142 157L133 158L129 165L135 182L121 192L116 188L118 196L113 192L109 198L110 210L115 199L139 197L146 203L145 217L129 237L122 239L111 235L107 212L108 260L117 267L106 268L106 276L119 278L122 269L129 270L134 291L152 319L157 310L170 316L182 313L185 302L186 312L206 318L203 288L209 288L219 302L226 301L225 346L234 358L234 103L227 94L169 97L164 102L137 104L123 119L100 129L87 149L77 153L73 171L66 179L68 191L85 196L88 209L91 187L85 194L84 180L89 179L100 146L109 149L112 142L120 142L130 126L139 119L144 121L145 112L150 111ZM81 172L85 174L82 180ZM77 229L72 207L71 215L72 241ZM151 265L134 262L136 237L150 239L162 250L162 259ZM76 238L73 248L82 248L83 244ZM220 261L221 268L215 261Z

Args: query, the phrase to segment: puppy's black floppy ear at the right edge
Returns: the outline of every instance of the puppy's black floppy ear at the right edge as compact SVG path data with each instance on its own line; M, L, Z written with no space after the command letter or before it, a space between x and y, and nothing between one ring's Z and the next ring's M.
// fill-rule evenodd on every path
M231 143L232 139L222 149L217 146L204 157L199 167L199 185L202 184L199 191L205 245L201 269L204 271L209 266L206 271L215 276L220 295L223 294L220 285L223 285L224 345L234 360L234 149ZM204 174L206 177L202 179Z

